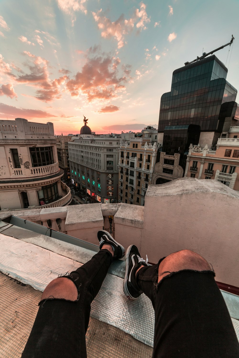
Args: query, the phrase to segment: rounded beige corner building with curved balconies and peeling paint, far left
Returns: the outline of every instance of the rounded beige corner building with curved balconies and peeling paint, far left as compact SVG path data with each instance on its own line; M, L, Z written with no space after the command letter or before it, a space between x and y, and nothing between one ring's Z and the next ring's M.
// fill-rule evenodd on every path
M0 121L0 209L58 207L71 202L61 182L51 122Z

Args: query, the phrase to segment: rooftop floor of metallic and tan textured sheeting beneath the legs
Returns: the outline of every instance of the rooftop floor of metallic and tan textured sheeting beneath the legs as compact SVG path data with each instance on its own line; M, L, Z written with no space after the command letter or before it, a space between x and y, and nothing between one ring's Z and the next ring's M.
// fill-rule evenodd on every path
M23 220L23 219L21 219ZM15 221L16 222L16 221ZM20 357L38 310L41 292L58 275L71 272L99 250L67 235L45 236L0 221L0 357ZM72 238L73 239L73 238ZM129 301L123 294L125 262L114 262L92 303L86 335L88 357L151 357L154 312L145 295ZM9 277L10 276L10 277ZM222 291L239 339L239 297ZM109 305L109 294L111 297ZM135 339L136 338L136 339ZM146 344L145 344L146 343Z

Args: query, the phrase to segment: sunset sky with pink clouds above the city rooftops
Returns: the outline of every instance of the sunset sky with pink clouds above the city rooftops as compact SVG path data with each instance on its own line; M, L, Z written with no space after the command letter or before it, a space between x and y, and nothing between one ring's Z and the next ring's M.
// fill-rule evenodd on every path
M238 14L238 0L1 0L0 118L64 135L83 116L97 134L157 128L173 71L232 34L215 54L239 89Z

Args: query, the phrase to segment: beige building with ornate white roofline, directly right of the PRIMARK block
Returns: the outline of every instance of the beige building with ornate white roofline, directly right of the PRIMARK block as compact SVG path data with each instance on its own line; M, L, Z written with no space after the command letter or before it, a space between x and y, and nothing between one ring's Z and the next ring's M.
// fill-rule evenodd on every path
M159 148L157 135L157 130L152 127L138 133L121 134L119 203L144 205Z

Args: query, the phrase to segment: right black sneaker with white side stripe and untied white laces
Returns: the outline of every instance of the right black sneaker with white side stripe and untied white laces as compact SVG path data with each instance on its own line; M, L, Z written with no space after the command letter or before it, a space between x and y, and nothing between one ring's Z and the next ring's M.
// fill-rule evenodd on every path
M143 293L135 280L135 271L140 265L149 266L148 257L146 255L146 261L141 258L139 250L135 245L128 247L125 256L124 294L129 299L135 300Z

